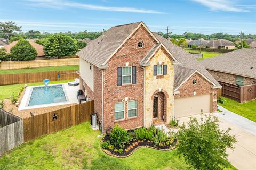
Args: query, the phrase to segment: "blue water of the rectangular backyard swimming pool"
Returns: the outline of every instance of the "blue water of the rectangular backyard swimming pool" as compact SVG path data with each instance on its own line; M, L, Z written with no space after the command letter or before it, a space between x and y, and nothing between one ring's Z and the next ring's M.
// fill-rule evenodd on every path
M28 106L67 101L62 85L34 87Z

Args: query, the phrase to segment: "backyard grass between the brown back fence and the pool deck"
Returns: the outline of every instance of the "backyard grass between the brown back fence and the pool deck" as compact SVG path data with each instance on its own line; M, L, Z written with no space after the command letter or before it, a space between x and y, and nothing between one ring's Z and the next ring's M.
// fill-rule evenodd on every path
M74 80L61 80L61 81L50 81L49 84L58 84L58 83L67 83ZM17 95L20 88L23 87L25 84L12 84L12 85L5 85L0 86L0 100L1 99L7 99L12 96L12 93L14 95ZM43 82L41 83L27 83L28 86L38 86L38 85L44 85Z

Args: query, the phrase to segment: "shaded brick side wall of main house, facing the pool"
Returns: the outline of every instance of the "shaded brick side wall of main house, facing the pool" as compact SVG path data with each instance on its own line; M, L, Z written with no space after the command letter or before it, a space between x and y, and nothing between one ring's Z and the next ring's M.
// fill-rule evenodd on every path
M94 91L80 78L80 89L82 89L90 100L94 100L94 112L97 113L99 120L102 124L102 70L99 70L97 66L93 65L93 77L94 77Z

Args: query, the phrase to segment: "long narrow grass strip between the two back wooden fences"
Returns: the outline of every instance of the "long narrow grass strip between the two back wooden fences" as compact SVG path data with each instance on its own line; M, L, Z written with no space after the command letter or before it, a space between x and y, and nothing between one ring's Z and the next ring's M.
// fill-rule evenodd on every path
M39 67L30 69L10 69L0 70L0 74L16 74L16 73L36 73L45 71L61 71L61 70L78 70L79 65L56 66L56 67Z

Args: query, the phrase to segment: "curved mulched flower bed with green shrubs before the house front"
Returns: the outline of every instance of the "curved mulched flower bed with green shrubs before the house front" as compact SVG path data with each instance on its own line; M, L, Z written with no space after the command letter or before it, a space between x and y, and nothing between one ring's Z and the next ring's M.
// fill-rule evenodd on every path
M163 129L157 129L151 125L149 129L138 128L124 130L116 125L101 141L102 150L114 157L130 156L141 147L149 147L158 150L172 150L176 147L177 139L172 134L167 134Z

